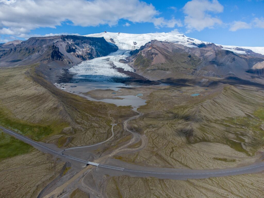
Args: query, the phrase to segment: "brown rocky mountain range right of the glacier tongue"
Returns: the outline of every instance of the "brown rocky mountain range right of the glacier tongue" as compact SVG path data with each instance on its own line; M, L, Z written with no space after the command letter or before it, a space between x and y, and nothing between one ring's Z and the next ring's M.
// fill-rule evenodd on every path
M254 52L239 55L215 44L193 48L153 40L130 54L129 64L136 72L155 80L186 75L263 80L262 73L252 72L261 67L263 55Z

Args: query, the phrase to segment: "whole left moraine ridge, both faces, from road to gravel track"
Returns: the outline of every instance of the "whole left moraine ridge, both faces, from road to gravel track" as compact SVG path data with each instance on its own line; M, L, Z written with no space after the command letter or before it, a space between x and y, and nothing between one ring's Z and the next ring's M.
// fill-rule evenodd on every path
M105 140L112 122L134 114L129 107L64 92L36 73L35 67L39 66L0 68L1 125L59 146L85 145Z

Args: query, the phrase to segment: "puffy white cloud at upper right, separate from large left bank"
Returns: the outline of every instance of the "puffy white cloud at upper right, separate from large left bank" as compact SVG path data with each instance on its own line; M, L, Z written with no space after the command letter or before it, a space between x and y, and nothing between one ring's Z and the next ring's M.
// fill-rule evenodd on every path
M187 32L192 30L201 31L206 27L212 28L215 25L222 24L217 17L212 17L209 12L221 13L224 7L217 0L192 0L185 4L183 12L186 14L184 23Z

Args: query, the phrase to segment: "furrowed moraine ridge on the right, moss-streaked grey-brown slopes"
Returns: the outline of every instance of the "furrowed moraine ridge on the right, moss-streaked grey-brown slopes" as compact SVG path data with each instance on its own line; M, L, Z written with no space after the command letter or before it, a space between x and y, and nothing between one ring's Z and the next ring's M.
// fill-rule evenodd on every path
M219 93L175 106L175 121L183 127L180 131L191 144L218 142L254 155L263 145L261 97L233 86Z

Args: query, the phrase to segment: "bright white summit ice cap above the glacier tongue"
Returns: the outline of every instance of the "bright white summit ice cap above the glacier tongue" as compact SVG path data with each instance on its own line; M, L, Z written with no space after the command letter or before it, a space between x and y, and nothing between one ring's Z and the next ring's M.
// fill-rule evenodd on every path
M194 44L209 44L209 42L200 41L198 39L193 39L187 37L183 34L174 33L149 33L149 34L125 34L125 33L114 33L114 32L102 32L98 34L88 34L84 35L88 37L104 37L106 41L114 43L119 49L134 50L139 49L141 46L145 45L149 41L168 41L172 43L177 43L185 45L188 47L195 47ZM222 45L225 50L233 51L237 54L247 54L247 50L252 50L255 53L264 55L264 47L238 47L238 46L228 46Z

